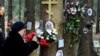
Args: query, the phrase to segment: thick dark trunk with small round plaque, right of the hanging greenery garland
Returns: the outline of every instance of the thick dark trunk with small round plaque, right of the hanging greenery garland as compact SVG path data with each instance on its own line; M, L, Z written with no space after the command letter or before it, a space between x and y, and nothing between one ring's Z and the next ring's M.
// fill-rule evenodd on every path
M83 1L83 5L86 5L86 11L84 13L84 19L81 20L81 26L79 29L79 48L78 56L96 56L96 53L93 50L93 40L92 40L92 22L93 15L89 16L87 10L92 8L92 0Z

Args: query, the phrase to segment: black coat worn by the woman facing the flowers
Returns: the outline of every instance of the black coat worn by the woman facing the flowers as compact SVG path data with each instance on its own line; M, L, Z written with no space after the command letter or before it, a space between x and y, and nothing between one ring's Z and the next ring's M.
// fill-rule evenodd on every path
M3 45L3 56L29 56L38 47L34 41L24 43L18 33L11 32Z

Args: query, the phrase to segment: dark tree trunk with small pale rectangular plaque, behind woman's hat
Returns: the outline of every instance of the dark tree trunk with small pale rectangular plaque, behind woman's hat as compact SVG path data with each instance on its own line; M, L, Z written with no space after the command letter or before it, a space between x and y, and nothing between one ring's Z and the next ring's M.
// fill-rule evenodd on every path
M27 29L27 33L31 31L35 31L35 9L34 9L34 0L25 0L26 7L26 19L27 23L29 23L30 29Z

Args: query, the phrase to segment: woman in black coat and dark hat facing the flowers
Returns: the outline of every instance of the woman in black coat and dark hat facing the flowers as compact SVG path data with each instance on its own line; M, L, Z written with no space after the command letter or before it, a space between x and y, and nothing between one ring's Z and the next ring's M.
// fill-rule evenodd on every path
M16 22L11 27L11 32L3 45L3 56L29 56L38 47L36 39L29 43L24 42L25 30L25 24L22 22Z

